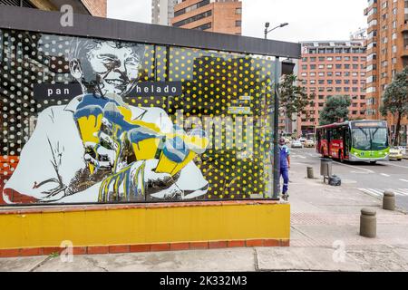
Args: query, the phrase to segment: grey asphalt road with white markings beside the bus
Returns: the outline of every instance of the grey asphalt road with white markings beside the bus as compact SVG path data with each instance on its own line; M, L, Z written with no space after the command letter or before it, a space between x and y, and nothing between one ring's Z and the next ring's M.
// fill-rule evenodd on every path
M291 149L292 164L313 166L320 176L320 154L315 149ZM296 166L296 167L297 167ZM343 187L352 188L374 198L383 198L384 190L396 195L396 205L408 211L408 160L377 162L333 162L333 174L342 179ZM322 178L323 179L323 178Z

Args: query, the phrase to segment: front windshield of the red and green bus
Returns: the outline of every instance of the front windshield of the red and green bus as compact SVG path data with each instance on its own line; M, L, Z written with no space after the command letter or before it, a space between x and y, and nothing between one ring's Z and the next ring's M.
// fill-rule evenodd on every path
M353 147L356 150L385 150L388 148L386 128L353 129Z

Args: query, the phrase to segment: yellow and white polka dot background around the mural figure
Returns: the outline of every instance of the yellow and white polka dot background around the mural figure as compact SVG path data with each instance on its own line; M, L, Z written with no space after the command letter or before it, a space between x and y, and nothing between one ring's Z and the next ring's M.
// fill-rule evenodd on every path
M15 171L21 150L34 132L38 113L70 101L38 102L33 88L34 83L75 82L70 73L72 42L70 36L0 30L3 184ZM206 199L261 197L272 179L267 168L271 138L267 108L274 97L273 60L259 55L143 45L139 82L182 82L182 94L130 95L125 102L161 108L174 123L182 115L186 131L204 127L212 144L196 164L209 181ZM237 108L246 113L239 113Z

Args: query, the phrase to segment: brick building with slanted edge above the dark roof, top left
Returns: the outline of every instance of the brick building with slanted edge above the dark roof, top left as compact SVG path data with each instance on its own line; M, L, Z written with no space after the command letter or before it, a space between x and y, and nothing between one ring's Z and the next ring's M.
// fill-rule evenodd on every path
M106 17L107 0L0 0L0 5L13 5L36 8L46 11L59 11L62 5L72 5L77 14L90 14Z

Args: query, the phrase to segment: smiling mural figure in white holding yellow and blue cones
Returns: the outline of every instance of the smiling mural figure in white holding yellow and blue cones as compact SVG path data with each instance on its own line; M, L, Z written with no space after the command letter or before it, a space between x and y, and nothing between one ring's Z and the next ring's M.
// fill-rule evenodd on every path
M5 184L6 203L182 200L207 193L195 164L209 145L205 131L185 132L166 111L122 99L138 81L144 53L142 44L73 39L69 69L83 94L39 113Z

